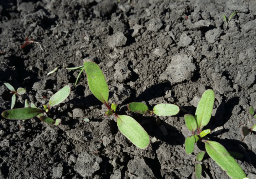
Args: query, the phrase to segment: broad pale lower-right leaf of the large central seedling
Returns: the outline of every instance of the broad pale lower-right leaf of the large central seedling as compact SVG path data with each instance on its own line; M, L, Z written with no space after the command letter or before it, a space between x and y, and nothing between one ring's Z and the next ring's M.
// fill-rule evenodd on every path
M150 142L148 133L146 133L135 119L128 115L118 115L116 120L119 130L134 145L140 149L146 149L148 147Z

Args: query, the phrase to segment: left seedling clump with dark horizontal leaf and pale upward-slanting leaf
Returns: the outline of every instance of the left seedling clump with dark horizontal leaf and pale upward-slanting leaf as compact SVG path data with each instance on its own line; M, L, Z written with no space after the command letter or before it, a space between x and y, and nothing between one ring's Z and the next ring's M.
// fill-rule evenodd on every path
M24 108L18 108L18 109L9 109L2 112L2 116L5 119L12 119L12 120L26 120L30 119L32 117L38 117L41 121L46 122L48 124L54 124L59 125L61 122L61 119L54 119L44 116L43 113L49 112L49 109L52 106L58 105L62 101L64 101L68 95L70 94L70 86L64 86L62 89L60 89L57 93L55 93L49 100L48 106L44 104L44 109L38 109L36 105L33 103L30 105L28 104L28 101L25 101L25 107Z

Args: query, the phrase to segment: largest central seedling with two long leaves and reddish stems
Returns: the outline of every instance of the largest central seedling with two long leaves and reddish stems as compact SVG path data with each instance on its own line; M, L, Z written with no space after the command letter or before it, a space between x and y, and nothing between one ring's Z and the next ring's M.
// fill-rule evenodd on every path
M148 133L146 133L143 127L132 117L128 115L118 115L116 113L116 103L112 103L111 106L108 103L108 84L100 67L95 62L86 60L84 62L84 70L87 74L90 91L108 108L105 115L114 115L120 132L140 149L146 149L150 142Z

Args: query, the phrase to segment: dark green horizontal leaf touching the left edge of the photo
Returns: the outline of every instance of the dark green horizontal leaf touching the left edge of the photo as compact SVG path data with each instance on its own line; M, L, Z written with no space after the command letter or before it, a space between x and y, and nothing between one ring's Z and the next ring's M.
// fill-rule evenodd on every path
M30 119L42 112L43 112L42 109L36 109L33 107L25 107L25 108L6 110L6 111L2 112L2 116L5 119L20 120L20 119Z

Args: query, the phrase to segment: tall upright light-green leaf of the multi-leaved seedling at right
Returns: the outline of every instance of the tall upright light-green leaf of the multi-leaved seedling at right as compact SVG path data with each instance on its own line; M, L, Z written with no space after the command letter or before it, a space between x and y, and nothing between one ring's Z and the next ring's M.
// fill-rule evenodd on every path
M196 123L197 128L199 131L207 125L210 121L212 116L212 109L214 105L214 91L213 90L206 90L204 91L197 107L196 107Z

